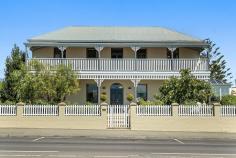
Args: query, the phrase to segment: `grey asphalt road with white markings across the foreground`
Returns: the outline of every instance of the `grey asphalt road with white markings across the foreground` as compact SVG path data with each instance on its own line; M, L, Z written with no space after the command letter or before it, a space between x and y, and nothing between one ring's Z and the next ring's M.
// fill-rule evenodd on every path
M235 158L236 140L10 137L0 138L1 157Z

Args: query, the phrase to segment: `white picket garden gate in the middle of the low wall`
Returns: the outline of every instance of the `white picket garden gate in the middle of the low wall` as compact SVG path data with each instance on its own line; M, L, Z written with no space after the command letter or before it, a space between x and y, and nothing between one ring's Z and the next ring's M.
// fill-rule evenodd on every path
M108 105L108 128L130 128L129 105Z

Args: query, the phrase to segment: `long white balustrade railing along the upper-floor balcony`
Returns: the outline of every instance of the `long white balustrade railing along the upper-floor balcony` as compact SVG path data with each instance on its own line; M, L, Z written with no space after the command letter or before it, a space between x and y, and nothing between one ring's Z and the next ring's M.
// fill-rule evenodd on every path
M87 58L33 58L27 60L29 66L30 61L37 60L44 64L47 69L53 70L57 65L71 65L75 71L179 71L189 68L191 71L207 71L207 59L87 59ZM32 70L31 67L29 67Z

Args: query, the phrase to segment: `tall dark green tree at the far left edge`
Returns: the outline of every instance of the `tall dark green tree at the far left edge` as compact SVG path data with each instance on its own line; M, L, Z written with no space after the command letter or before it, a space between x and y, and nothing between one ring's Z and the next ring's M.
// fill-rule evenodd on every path
M7 57L5 63L5 78L2 82L1 101L17 102L17 92L14 91L19 79L24 75L20 74L25 63L24 51L14 45L11 55Z

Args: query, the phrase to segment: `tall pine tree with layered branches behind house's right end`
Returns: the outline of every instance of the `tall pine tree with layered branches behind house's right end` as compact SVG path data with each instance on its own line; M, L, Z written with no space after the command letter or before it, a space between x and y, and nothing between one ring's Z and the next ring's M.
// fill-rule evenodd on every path
M209 58L209 67L211 71L210 78L222 82L227 82L228 79L232 78L232 73L230 68L226 67L226 61L224 55L219 51L220 47L217 47L216 44L210 39L205 40L209 44L209 47L203 51L202 56Z

